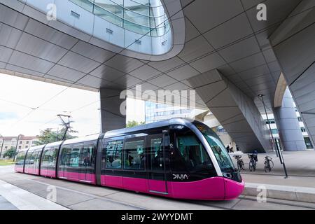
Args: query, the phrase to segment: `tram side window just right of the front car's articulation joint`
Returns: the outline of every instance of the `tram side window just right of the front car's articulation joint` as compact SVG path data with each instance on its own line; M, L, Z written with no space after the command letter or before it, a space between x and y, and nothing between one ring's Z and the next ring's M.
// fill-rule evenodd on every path
M106 148L106 168L121 169L123 141L110 141Z

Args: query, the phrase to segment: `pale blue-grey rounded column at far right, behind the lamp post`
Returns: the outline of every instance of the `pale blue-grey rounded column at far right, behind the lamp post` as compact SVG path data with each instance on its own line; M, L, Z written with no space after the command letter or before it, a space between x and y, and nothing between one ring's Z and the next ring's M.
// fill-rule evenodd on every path
M284 93L282 106L274 109L274 119L284 151L306 150L300 124L295 113L293 98L288 88Z

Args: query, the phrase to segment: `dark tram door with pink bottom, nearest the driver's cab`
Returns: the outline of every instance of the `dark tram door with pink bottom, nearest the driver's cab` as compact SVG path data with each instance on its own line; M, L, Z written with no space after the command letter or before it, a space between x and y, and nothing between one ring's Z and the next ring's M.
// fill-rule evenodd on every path
M148 190L151 193L166 195L167 173L165 158L165 134L149 135L147 144Z

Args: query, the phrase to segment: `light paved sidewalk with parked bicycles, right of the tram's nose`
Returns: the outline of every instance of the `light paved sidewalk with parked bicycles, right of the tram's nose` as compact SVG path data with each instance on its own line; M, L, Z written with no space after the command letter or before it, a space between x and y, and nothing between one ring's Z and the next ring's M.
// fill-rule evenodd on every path
M233 155L242 155L245 170L241 171L241 176L245 182L243 195L256 197L265 187L267 197L292 200L297 202L315 203L315 151L283 152L286 163L288 179L284 179L283 165L275 153L258 154L258 163L255 172L248 169L249 158L247 154L241 152L231 153L230 156L237 167L237 160ZM274 168L272 172L266 173L264 170L265 155L272 157Z

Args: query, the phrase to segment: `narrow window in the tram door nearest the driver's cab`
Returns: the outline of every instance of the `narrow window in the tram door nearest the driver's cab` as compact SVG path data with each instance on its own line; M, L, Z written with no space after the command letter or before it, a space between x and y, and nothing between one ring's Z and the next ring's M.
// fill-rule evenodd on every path
M151 139L151 168L154 170L164 169L162 138Z

